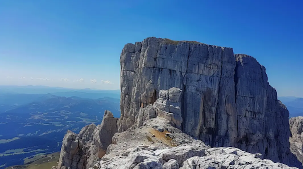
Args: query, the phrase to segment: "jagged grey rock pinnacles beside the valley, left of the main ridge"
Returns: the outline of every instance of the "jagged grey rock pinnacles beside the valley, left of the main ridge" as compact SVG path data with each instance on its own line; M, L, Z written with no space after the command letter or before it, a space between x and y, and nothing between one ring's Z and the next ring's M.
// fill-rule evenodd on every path
M56 169L85 169L89 168L96 158L102 158L112 142L112 136L117 132L117 120L110 111L105 110L100 125L87 125L79 134L68 131L62 141Z

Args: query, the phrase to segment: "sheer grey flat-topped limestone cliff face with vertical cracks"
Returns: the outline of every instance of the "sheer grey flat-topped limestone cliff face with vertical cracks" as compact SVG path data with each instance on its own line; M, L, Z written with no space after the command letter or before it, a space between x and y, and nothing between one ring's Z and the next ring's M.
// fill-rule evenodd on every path
M121 53L118 131L161 116L212 147L291 164L288 110L265 67L231 48L150 37Z

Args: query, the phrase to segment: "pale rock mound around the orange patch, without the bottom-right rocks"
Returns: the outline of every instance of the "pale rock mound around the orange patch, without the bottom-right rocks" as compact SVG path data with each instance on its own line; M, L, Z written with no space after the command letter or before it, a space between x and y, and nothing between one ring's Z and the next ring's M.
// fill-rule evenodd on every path
M112 144L108 146L106 155L98 161L95 168L128 169L128 168L163 168L163 165L171 159L182 164L187 158L205 155L206 149L210 148L200 140L195 140L180 129L171 126L168 120L161 117L145 122L141 129L132 129L118 132L113 136ZM154 143L146 138L151 137L149 131L157 131L154 127L170 129L183 144L178 146L167 145L163 137L153 137ZM171 140L174 142L175 140ZM166 164L168 165L168 164Z

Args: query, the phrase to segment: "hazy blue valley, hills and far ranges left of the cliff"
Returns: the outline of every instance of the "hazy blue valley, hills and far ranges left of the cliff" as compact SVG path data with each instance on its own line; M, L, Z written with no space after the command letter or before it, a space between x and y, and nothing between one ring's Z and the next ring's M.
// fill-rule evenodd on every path
M0 168L60 151L68 129L79 132L89 123L100 124L105 110L120 116L116 91L87 91L18 94L0 90Z

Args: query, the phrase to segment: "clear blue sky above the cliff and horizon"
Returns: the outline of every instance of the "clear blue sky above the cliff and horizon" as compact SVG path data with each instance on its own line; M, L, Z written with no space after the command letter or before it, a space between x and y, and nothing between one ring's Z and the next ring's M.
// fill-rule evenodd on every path
M254 56L279 96L303 97L302 11L301 0L3 0L0 84L118 89L123 46L155 36Z

